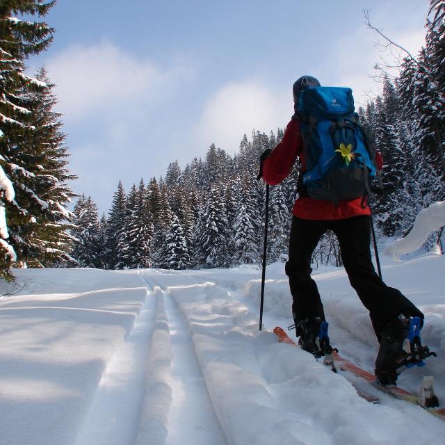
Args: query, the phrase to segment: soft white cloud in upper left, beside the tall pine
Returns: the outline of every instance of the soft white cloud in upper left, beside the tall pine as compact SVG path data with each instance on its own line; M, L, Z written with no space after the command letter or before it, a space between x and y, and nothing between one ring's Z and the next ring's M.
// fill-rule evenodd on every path
M56 83L60 109L69 120L97 113L124 118L124 111L162 98L161 90L193 76L187 60L174 59L169 67L136 58L110 42L70 47L46 63Z

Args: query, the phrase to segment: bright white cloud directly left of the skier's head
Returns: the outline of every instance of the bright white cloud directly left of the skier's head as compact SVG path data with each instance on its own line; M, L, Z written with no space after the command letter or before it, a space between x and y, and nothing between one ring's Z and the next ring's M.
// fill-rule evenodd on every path
M215 143L234 153L244 133L252 129L276 131L289 122L292 114L291 90L273 91L257 81L228 83L204 105L193 137L204 147Z

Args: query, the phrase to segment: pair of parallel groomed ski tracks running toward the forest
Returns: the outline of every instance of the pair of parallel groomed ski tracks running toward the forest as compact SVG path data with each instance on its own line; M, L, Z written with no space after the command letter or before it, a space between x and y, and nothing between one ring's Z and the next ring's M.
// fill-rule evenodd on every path
M227 445L179 305L140 273L145 302L108 362L75 445Z

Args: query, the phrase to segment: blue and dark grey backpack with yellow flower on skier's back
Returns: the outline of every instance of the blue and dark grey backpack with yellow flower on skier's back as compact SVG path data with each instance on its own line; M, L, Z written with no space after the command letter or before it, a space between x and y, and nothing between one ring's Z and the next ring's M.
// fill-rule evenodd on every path
M298 118L306 171L300 189L315 200L339 200L371 194L369 184L378 175L375 149L355 113L350 88L309 87L301 92ZM302 181L302 187L301 187Z

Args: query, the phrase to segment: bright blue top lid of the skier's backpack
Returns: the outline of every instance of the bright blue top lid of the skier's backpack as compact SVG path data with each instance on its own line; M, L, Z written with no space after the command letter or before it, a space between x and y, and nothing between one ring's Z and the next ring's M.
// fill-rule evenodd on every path
M298 113L316 120L341 119L354 113L353 91L337 86L308 87L301 92Z

